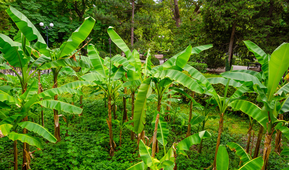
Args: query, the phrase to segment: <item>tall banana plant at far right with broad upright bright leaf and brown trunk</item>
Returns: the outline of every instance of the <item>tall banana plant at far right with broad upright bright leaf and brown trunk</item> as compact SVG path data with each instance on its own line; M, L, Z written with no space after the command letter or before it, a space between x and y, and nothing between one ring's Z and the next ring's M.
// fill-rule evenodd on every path
M289 111L289 84L281 81L289 66L289 60L287 60L289 44L281 44L270 55L266 54L253 42L244 41L244 43L249 51L254 53L259 63L262 64L263 71L258 73L250 70L247 72L235 70L232 73L222 73L222 76L253 88L258 94L256 100L264 104L262 108L259 108L249 101L236 100L229 105L251 116L266 130L263 151L264 165L262 167L262 169L266 169L271 152L273 133L279 130L286 138L289 138L288 122L278 119L278 115Z

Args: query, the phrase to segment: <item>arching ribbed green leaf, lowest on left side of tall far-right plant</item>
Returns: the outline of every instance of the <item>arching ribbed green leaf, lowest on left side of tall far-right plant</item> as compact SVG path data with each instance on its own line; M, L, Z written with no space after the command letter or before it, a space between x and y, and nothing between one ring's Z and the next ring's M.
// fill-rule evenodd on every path
M234 109L241 110L259 122L265 129L267 128L268 117L263 116L261 109L257 105L246 100L235 100L228 105Z

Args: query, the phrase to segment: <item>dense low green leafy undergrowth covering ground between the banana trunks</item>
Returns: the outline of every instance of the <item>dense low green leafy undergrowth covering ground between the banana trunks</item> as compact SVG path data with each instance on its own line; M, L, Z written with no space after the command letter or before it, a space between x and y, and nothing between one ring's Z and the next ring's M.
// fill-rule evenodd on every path
M48 75L46 78L51 78ZM75 79L60 79L60 85L65 84ZM45 84L48 88L51 82ZM119 147L119 127L113 125L114 141L117 144L116 152L113 157L109 156L108 146L108 128L104 120L107 118L107 108L104 107L103 96L91 96L89 97L90 89L84 89L84 110L83 116L75 116L70 120L68 128L66 123L61 118L61 138L62 141L57 144L47 142L42 138L44 149L36 151L31 159L31 168L37 170L58 170L58 169L126 169L140 162L137 150L137 139L131 141L131 132L124 128L122 132L122 147ZM59 100L70 101L69 96L63 95L59 97ZM130 101L127 103L128 117L131 116ZM122 117L122 100L117 100L117 116ZM180 116L182 116L186 122L188 122L189 106L188 104L173 104L173 107L181 107ZM156 103L151 102L148 104L148 112L146 116L146 124L144 126L145 134L148 138L151 138L153 134L153 128L151 121L153 119L152 112L156 110ZM198 113L198 110L194 110ZM216 115L211 112L210 115ZM53 127L53 113L47 111L44 113L45 128L48 128L50 132L54 132ZM38 120L35 120L38 122ZM167 128L170 131L168 136L168 144L166 150L172 146L174 142L181 141L185 138L187 127L172 126L172 119L168 122ZM176 119L175 124L180 125L181 120ZM224 128L222 132L221 144L226 145L228 142L236 142L242 147L246 147L247 144L247 129L249 127L247 117L240 117L232 113L226 113L224 116ZM204 139L203 149L201 153L197 153L198 145L191 147L191 150L187 152L188 156L178 155L176 163L178 169L196 170L210 167L213 163L216 141L218 120L211 120L206 123L206 130L212 134L211 138ZM68 129L69 137L65 137L66 129ZM192 133L196 133L199 130L198 125L192 126ZM255 142L256 136L259 131L259 125L254 126L255 130ZM274 150L275 135L273 135L272 152L269 158L269 167L271 170L279 170L288 166L286 157L277 155ZM263 155L263 142L262 140L259 156ZM4 149L0 149L0 169L13 169L13 142L10 140L1 142L1 146ZM288 140L283 138L283 145L288 146ZM284 147L283 146L283 147ZM151 147L151 146L150 146ZM22 144L18 141L18 167L21 167L22 163ZM159 153L156 154L156 158L160 159L163 155L163 148L159 144ZM30 150L36 150L36 147L31 146ZM228 148L227 148L228 149ZM255 147L253 147L254 152ZM228 149L230 163L229 169L238 168L240 159L236 154ZM276 161L278 160L278 161ZM208 168L212 169L212 168Z

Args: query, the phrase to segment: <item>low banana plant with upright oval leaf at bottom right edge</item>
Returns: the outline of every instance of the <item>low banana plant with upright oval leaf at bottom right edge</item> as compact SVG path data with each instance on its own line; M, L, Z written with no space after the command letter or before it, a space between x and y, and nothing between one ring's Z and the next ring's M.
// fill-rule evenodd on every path
M238 170L260 170L263 166L262 157L252 159L251 156L238 144L229 142L227 147L233 150L236 155L241 159L242 166ZM229 155L225 146L220 145L217 153L217 170L229 169Z

